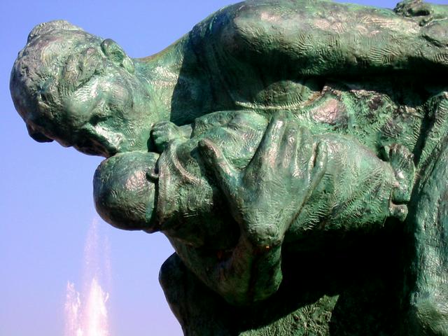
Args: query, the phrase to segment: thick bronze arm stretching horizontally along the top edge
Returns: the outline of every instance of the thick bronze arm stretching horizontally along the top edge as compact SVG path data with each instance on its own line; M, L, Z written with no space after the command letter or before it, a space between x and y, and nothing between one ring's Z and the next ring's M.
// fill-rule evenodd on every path
M413 1L406 8L419 3L423 2ZM448 6L431 8L437 19L421 27L424 13L417 10L408 9L405 15L400 10L325 0L244 1L201 22L193 35L200 41L210 39L214 47L209 52L216 54L216 62L241 62L234 63L236 73L242 64L273 76L393 70L423 74L435 67L447 71Z

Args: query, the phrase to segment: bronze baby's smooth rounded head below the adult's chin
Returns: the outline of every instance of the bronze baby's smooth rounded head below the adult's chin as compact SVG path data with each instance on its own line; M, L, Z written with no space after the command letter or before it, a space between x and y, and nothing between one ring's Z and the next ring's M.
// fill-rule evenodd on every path
M94 202L104 221L124 230L155 230L155 179L158 154L119 153L94 174Z

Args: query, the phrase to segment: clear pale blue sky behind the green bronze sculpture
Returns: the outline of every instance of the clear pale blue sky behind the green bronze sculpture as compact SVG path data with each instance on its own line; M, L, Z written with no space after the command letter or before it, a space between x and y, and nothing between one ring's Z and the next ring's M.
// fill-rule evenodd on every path
M165 48L232 0L2 0L0 3L0 335L58 336L67 281L83 283L83 253L96 218L97 157L28 137L10 99L9 74L34 25L65 19L113 38L132 57ZM353 1L393 8L394 1ZM439 0L437 3L447 3ZM181 335L158 283L173 252L160 234L125 232L99 221L108 241L111 335ZM104 252L106 253L106 252Z

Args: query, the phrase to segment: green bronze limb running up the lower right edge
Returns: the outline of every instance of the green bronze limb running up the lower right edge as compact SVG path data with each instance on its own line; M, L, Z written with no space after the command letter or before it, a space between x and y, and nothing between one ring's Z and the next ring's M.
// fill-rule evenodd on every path
M448 335L448 137L426 167L409 206L413 240L403 335Z

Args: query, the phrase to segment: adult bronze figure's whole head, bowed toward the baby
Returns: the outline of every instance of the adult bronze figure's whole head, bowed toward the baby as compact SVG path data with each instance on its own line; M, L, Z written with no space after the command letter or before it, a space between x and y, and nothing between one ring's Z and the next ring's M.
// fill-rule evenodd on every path
M157 121L134 72L133 60L111 39L52 21L29 34L10 91L33 139L109 157L146 149Z

